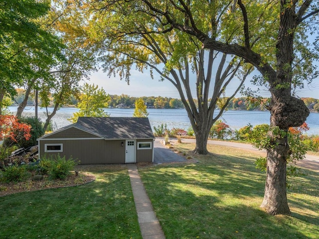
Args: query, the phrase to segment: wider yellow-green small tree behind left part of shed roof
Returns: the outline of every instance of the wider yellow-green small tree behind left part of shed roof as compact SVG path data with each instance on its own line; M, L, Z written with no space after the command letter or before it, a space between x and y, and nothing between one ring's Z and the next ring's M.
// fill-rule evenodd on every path
M98 86L89 85L87 83L81 88L81 95L77 108L79 112L73 114L69 120L75 123L79 117L109 117L103 108L108 107L110 96L106 94L103 88L98 89Z

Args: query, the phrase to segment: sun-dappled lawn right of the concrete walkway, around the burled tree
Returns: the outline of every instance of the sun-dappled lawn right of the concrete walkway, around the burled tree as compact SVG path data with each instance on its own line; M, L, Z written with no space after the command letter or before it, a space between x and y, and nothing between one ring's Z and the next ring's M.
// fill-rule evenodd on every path
M176 150L199 162L141 167L139 172L167 239L318 239L319 173L290 179L291 216L270 216L259 206L265 174L258 152L208 145L208 156Z

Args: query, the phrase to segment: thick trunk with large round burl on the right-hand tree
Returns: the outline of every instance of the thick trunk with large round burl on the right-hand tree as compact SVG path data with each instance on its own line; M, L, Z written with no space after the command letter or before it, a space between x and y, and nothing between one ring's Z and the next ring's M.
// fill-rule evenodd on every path
M275 134L272 129L278 127L287 132L289 127L303 124L309 116L304 102L291 96L294 34L298 22L295 9L287 7L289 4L289 0L281 0L282 13L276 44L277 75L274 79L269 78L272 94L269 135L274 147L267 149L267 178L261 207L271 215L290 214L286 190L287 158L290 153L287 135Z

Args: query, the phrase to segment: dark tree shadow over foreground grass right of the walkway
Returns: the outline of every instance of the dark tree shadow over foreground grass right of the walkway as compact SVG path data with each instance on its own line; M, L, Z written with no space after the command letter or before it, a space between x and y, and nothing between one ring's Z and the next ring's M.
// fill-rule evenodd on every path
M297 220L291 217L270 216L254 203L243 205L225 195L207 196L172 187L160 190L160 194L159 190L147 191L166 238L307 238L305 228L316 230L307 223L299 231L294 225Z

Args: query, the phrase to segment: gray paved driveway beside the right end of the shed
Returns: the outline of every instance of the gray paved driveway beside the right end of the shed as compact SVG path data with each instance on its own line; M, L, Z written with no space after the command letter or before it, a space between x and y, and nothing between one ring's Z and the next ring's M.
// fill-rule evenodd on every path
M183 162L186 159L161 144L161 138L156 138L154 142L154 164Z

